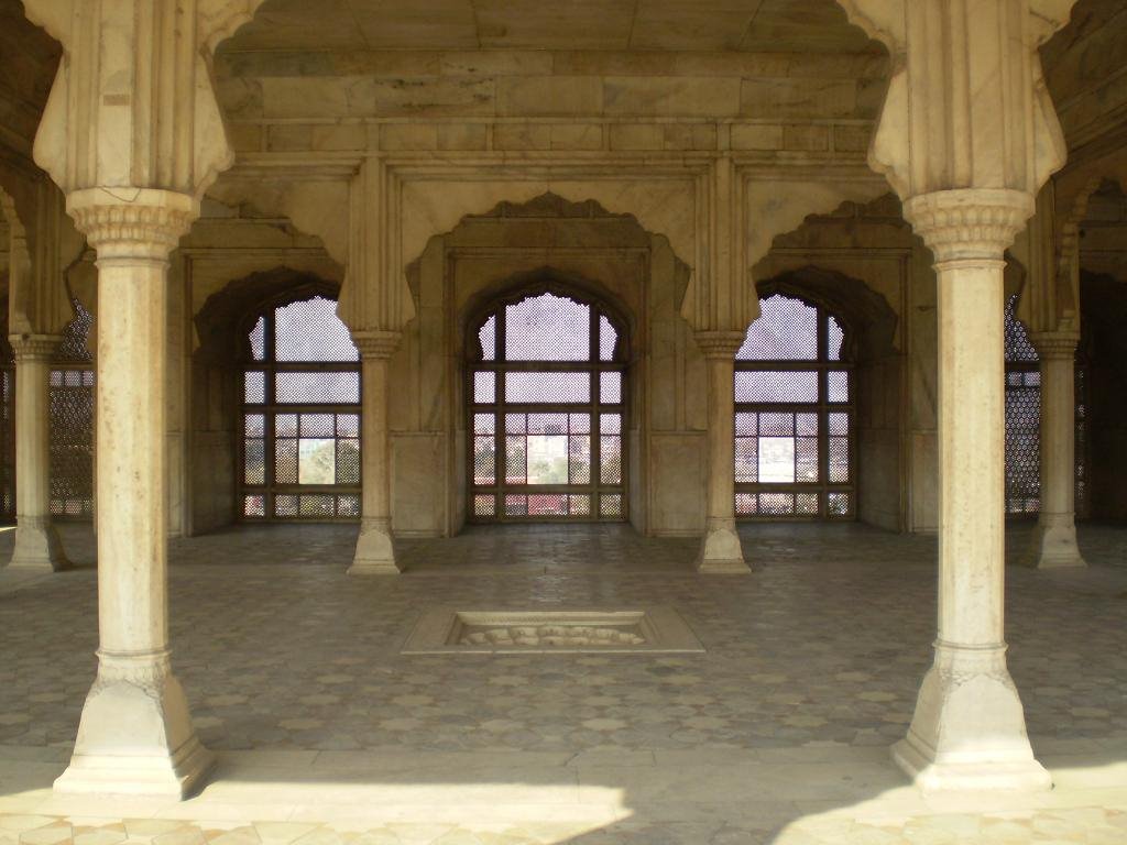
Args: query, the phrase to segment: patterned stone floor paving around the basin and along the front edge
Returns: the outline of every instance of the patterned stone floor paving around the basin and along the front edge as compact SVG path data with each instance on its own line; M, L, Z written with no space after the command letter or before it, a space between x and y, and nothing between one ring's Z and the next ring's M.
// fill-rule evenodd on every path
M696 576L694 541L515 526L402 544L408 573L350 579L354 530L231 531L171 544L174 665L220 750L384 754L786 754L887 746L911 719L934 635L934 539L862 526L747 526L756 571ZM0 572L0 745L64 750L94 676L92 541L80 567ZM1028 541L1011 531L1014 560ZM1093 566L1008 569L1010 664L1038 742L1127 738L1127 531L1085 526ZM0 555L10 533L0 535ZM405 657L434 604L467 610L676 607L708 653ZM55 749L50 748L56 747ZM877 748L873 748L877 751ZM240 825L0 816L0 845L336 843L1127 843L1127 794L1100 807L859 821L817 807L647 808L559 825ZM672 810L669 811L672 812ZM797 820L796 820L797 819Z

